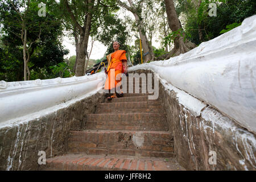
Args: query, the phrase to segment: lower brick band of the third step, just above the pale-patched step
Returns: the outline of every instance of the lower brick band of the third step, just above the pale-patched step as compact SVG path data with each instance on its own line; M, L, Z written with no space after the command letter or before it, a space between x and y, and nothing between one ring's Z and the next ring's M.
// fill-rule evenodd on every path
M155 130L167 131L167 122L159 121L87 121L87 130Z

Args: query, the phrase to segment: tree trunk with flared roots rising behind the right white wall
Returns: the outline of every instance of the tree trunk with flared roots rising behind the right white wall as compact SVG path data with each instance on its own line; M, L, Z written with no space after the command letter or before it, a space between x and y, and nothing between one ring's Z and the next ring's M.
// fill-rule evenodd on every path
M164 0L164 2L166 4L168 23L172 32L177 31L179 29L182 30L181 23L175 10L174 1ZM188 52L190 49L195 48L195 44L189 42L188 40L184 41L184 36L185 35L183 33L183 35L178 35L174 39L174 48L170 53L171 56L177 56L180 55L180 53L185 53Z

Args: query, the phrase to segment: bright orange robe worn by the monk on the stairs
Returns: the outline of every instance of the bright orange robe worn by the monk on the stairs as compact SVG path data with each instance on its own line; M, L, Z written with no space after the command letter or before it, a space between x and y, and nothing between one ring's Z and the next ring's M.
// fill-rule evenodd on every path
M107 69L108 78L106 79L104 88L105 90L114 89L118 82L122 80L122 78L117 77L117 75L119 74L119 76L121 76L123 72L122 60L127 61L125 53L126 51L124 50L118 50L107 56L109 64ZM112 75L110 73L112 73Z

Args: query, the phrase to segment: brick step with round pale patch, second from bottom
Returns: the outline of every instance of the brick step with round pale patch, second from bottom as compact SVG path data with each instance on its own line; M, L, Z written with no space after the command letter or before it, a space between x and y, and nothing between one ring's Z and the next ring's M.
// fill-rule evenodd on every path
M131 155L158 158L174 156L174 141L167 131L70 131L69 153Z

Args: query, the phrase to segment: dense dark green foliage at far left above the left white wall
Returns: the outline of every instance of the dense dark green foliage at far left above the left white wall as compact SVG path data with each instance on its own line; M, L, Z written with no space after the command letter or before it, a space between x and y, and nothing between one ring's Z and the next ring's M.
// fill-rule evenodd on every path
M20 9L22 0L13 2L14 6ZM46 17L38 16L40 2L31 0L30 9L26 14L28 46L34 42L29 49L31 59L28 62L32 80L56 77L49 67L63 63L64 55L68 54L68 50L61 44L63 29L60 21L49 11ZM19 14L16 13L10 1L5 0L0 3L0 20L2 23L0 80L22 81L24 70L23 43L20 39L22 25ZM40 39L38 39L39 35ZM38 41L35 42L37 39Z

